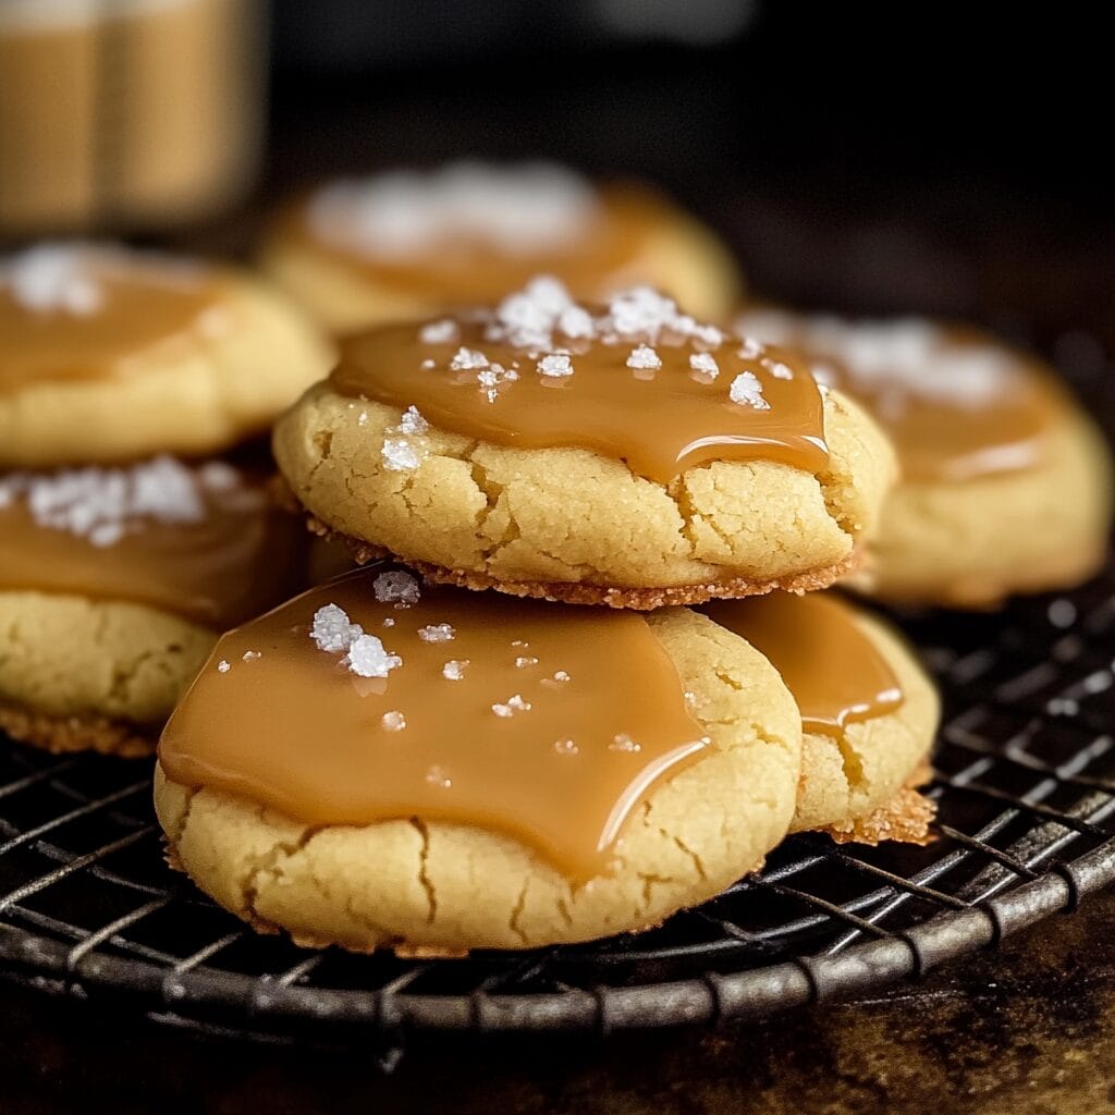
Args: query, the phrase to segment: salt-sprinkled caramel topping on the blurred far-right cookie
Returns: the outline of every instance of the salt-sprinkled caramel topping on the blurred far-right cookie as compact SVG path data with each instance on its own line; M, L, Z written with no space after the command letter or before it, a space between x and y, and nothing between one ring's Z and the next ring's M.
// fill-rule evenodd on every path
M891 435L910 481L966 481L1038 464L1064 394L1039 361L972 329L845 323L758 311L740 321L805 349L824 382Z

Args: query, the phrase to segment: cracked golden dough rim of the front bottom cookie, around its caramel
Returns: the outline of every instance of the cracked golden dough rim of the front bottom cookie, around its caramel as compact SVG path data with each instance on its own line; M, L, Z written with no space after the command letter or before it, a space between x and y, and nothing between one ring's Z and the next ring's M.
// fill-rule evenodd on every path
M769 663L696 613L648 617L697 698L706 757L634 814L614 872L573 886L532 849L420 817L311 827L244 797L155 775L180 864L256 929L306 946L434 954L526 949L647 929L758 867L785 835L801 718ZM312 740L308 740L308 744Z

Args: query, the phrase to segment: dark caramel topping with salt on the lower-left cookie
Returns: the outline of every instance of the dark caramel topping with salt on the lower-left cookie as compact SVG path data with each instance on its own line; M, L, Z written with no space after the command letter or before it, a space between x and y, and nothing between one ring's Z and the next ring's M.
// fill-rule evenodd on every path
M270 506L262 479L223 463L198 474L207 483L158 458L0 478L0 591L130 601L216 631L297 591L304 532ZM153 502L159 483L173 496Z

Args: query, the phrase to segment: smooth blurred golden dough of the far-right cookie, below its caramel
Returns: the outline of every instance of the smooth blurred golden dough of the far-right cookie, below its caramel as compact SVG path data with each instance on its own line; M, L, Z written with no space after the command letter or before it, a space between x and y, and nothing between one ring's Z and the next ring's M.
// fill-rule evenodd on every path
M895 487L852 584L898 603L993 608L1014 593L1093 576L1106 560L1111 518L1111 450L1066 407L1039 465Z

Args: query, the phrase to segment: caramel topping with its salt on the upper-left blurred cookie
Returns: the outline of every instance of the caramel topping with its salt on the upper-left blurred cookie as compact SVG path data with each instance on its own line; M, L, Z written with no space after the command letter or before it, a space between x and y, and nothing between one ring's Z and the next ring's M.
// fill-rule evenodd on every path
M45 244L0 260L0 395L125 376L132 357L223 328L221 297L200 264L123 248Z

